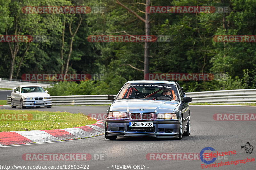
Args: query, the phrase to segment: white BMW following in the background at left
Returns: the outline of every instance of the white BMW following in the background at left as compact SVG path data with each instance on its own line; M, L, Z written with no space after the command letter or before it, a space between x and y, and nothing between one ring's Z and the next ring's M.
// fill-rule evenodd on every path
M16 88L14 87L11 93L11 106L12 108L16 106L21 108L52 107L52 99L47 92L40 85L20 85Z

